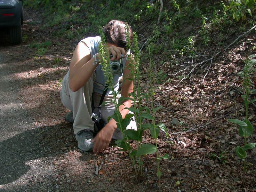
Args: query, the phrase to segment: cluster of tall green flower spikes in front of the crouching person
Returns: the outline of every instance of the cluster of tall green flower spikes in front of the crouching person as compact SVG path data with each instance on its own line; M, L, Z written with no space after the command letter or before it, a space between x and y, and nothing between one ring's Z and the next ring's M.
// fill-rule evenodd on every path
M156 140L156 138L158 137L159 134L159 129L163 130L167 135L167 130L166 127L164 126L164 124L155 124L155 112L156 110L160 109L160 107L158 108L154 108L154 106L152 106L152 111L153 111L153 116L150 114L150 109L146 106L142 106L141 102L142 100L147 100L148 101L148 94L151 95L150 98L152 100L153 97L153 92L152 89L149 93L143 93L141 88L140 88L140 70L139 70L139 62L140 62L140 52L139 52L139 47L138 47L138 42L137 42L137 34L133 33L133 47L131 47L131 42L129 39L129 33L128 33L128 26L126 26L127 28L127 34L126 34L126 39L128 41L128 46L127 46L127 50L132 50L133 52L133 56L130 54L128 56L128 60L130 60L130 64L127 66L129 68L129 70L131 71L133 77L131 78L126 78L125 80L127 81L132 81L134 84L134 88L133 91L129 94L128 98L123 98L120 97L118 102L116 100L116 92L114 92L114 86L112 84L112 79L113 76L111 74L111 70L109 69L109 57L108 57L108 53L107 53L107 47L106 47L106 42L105 42L105 37L102 34L102 30L101 30L101 42L99 45L99 52L102 56L102 60L101 60L101 66L102 66L102 70L104 71L104 75L107 77L107 84L109 85L110 89L112 90L113 93L113 102L115 105L115 112L114 114L108 118L108 120L110 118L113 118L116 120L116 124L117 127L119 128L119 130L123 133L123 139L121 140L117 140L115 143L118 147L122 148L122 150L124 151L128 151L130 160L131 160L131 164L133 167L133 170L135 172L136 175L136 180L140 181L140 176L142 176L142 166L143 166L143 156L147 155L147 154L153 154L155 152L157 152L157 157L156 157L156 161L158 164L158 161L160 158L167 158L168 155L164 155L163 157L159 157L158 155L158 150L157 150L157 143L155 145L152 144L148 144L148 143L143 143L142 142L142 134L143 131L146 129L150 129L151 135L152 137ZM152 72L153 74L153 72ZM152 75L153 76L153 75ZM153 83L153 81L152 81ZM121 105L124 105L123 102L125 100L132 100L134 103L133 107L125 107L124 109L129 109L130 111L132 111L134 114L127 114L124 118L122 118L122 115L119 111L119 107ZM152 103L151 103L152 104ZM130 123L130 121L132 121L132 117L134 117L136 125L137 125L137 130L126 130L127 125ZM152 124L145 124L143 123L144 119L148 119L153 121ZM133 148L130 145L129 140L135 140L137 142L137 145L135 148ZM161 176L161 172L159 170L159 164L157 166L158 171L157 171L157 176L158 178L160 178Z

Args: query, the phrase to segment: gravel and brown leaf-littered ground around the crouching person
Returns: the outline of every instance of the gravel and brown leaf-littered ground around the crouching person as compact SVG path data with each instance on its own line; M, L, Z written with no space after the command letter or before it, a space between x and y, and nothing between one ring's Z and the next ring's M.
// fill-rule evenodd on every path
M9 44L8 36L0 34L0 191L158 191L155 155L144 157L144 180L136 183L127 154L113 147L114 141L97 154L78 150L72 124L64 120L68 110L59 97L60 80L77 42L51 39L49 31L39 28L40 22L33 14L27 17L22 27L27 38L20 45ZM247 38L255 43L255 35ZM29 46L45 41L52 44L43 55ZM248 152L246 185L241 187L243 162L236 158L235 147L243 139L226 121L244 113L235 90L240 80L234 74L242 69L243 58L237 52L249 50L237 46L236 56L218 58L223 65L215 63L206 86L177 88L175 81L159 85L156 102L164 110L157 119L170 134L168 139L164 133L159 137L160 154L170 157L160 163L162 191L256 191L256 150ZM249 112L255 127L255 108ZM173 117L183 123L173 125ZM143 141L154 142L148 132ZM255 141L254 132L249 142ZM220 161L211 154L221 156Z

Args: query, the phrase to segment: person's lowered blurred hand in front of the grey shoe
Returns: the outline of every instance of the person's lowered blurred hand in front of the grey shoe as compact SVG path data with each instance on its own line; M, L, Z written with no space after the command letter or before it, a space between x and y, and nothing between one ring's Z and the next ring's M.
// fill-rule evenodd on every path
M98 132L96 137L92 140L92 142L94 142L94 147L93 147L94 153L102 151L108 147L114 131L115 129L113 127L106 124L106 126L103 127L100 130L100 132Z

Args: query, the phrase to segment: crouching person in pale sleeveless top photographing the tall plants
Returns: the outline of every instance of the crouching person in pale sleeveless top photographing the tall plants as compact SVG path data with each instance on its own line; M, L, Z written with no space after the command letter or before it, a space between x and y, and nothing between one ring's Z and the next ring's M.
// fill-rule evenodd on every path
M115 92L119 89L119 81L123 76L121 96L129 97L133 91L132 72L127 67L130 61L128 57L130 50L125 50L127 39L125 38L125 23L119 20L112 20L103 27L103 32L107 41L108 54L113 55L111 61L120 60L123 56L123 72L113 76ZM132 42L132 29L129 28L129 38ZM117 128L116 121L107 119L113 115L115 106L110 102L113 98L110 89L107 90L103 101L107 104L101 108L101 117L104 127L93 138L94 123L92 121L92 102L96 107L94 113L98 112L97 106L106 86L106 77L101 70L101 55L98 52L100 36L87 37L81 40L74 51L68 73L62 80L60 99L62 104L71 112L65 119L73 123L73 130L76 134L78 148L83 151L98 152L108 147L111 138L122 139L122 133ZM120 97L120 95L119 95ZM119 111L124 118L126 114L132 113L128 109L131 107L131 100L124 100L124 105L119 106ZM136 129L135 121L127 126L126 129Z

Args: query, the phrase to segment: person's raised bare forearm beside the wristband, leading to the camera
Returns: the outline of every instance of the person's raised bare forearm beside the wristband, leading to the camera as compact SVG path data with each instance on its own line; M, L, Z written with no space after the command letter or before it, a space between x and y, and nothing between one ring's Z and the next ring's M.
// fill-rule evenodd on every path
M69 88L76 92L81 87L84 86L84 84L88 81L88 79L92 76L94 70L99 65L99 62L97 65L93 65L94 58L90 59L88 62L83 64L83 60L78 61L76 65L81 65L80 68L78 68L76 71L70 71L69 72Z

